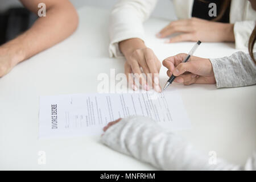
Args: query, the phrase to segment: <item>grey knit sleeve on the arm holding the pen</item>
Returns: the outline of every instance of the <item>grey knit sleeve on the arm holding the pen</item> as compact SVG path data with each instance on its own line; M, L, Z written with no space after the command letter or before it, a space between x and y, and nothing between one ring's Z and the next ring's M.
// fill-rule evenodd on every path
M256 84L256 65L248 53L239 51L229 57L210 59L210 62L217 88Z

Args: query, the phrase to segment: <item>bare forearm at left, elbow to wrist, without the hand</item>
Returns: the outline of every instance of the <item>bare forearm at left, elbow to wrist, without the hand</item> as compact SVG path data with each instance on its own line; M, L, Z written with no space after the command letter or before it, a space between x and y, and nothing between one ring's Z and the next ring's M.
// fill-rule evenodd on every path
M53 5L47 7L46 17L38 18L29 30L0 48L10 54L15 65L67 38L76 30L77 24L73 6L67 3Z

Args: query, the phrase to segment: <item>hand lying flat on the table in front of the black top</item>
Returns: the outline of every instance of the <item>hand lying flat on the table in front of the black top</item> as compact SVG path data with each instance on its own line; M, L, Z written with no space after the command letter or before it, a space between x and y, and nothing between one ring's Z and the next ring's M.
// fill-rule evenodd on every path
M181 33L167 41L167 43L192 41L196 42L234 42L234 24L219 23L200 18L176 20L164 27L156 36L166 36Z

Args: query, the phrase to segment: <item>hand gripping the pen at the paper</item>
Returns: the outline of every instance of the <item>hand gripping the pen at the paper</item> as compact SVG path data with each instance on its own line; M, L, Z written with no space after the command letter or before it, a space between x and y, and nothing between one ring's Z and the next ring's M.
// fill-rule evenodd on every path
M184 85L216 83L212 63L209 59L191 56L187 63L182 63L185 57L187 57L186 53L180 53L163 60L169 77L174 74L176 76L174 81Z

